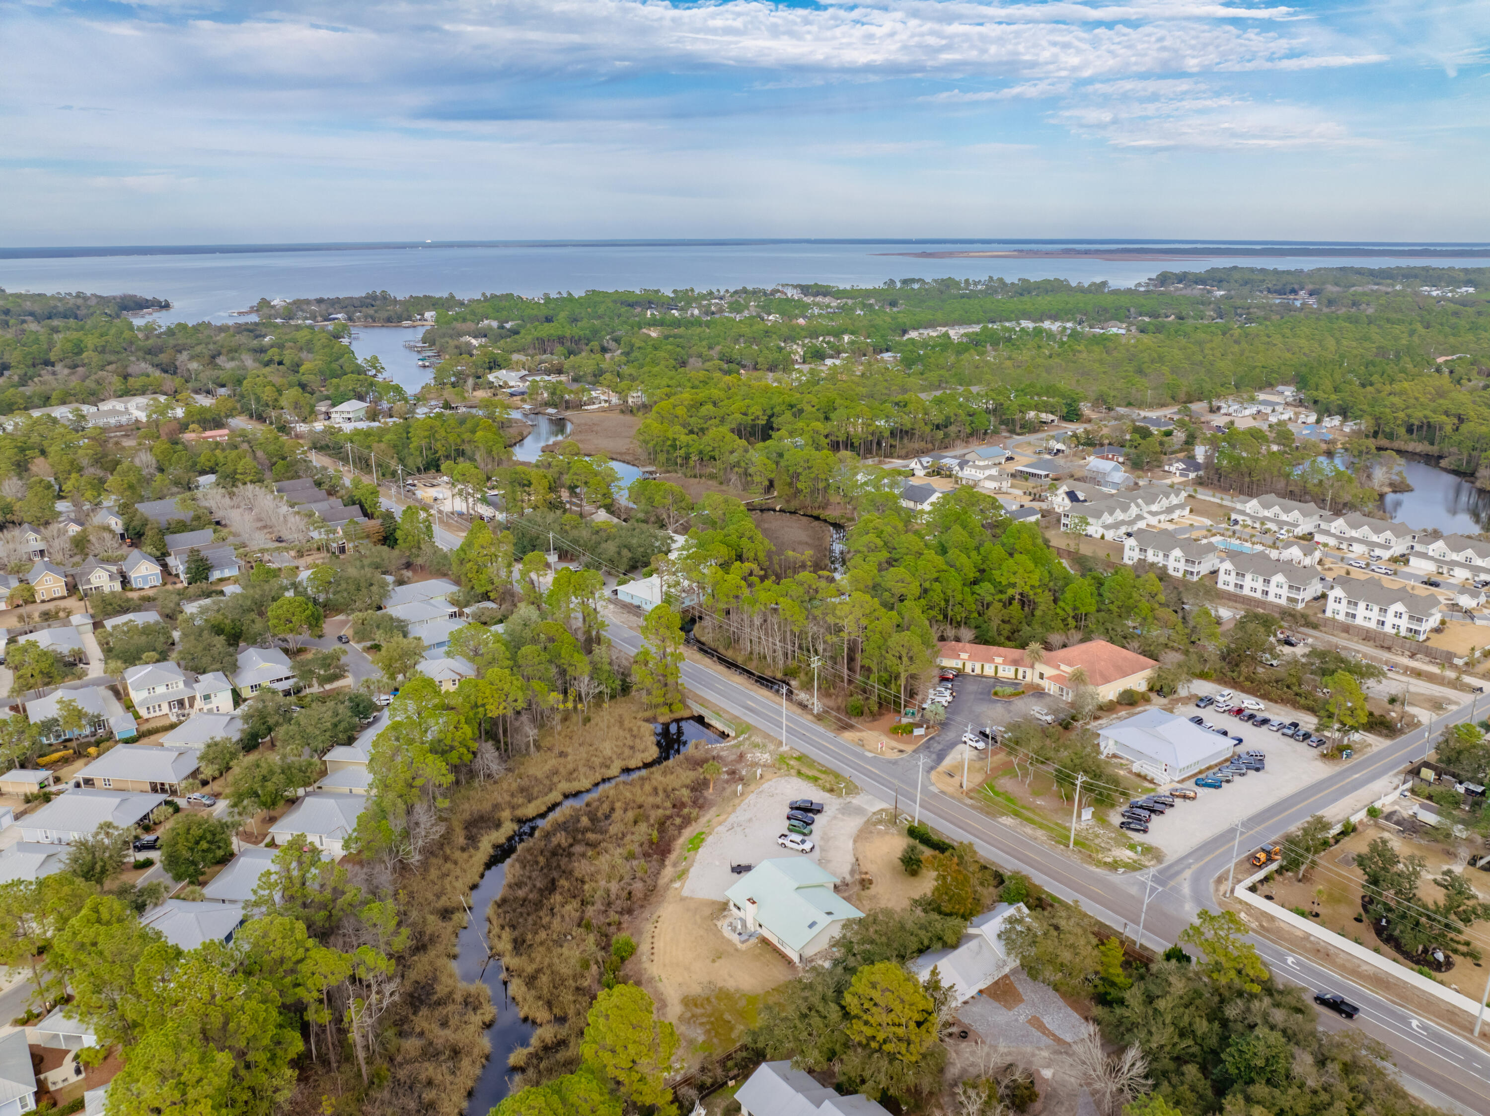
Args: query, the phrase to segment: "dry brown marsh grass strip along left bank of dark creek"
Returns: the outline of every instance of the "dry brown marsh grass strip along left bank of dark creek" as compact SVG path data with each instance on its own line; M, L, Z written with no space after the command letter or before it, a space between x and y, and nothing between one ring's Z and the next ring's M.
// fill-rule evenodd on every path
M490 1053L484 1031L492 1022L486 986L462 983L451 964L465 924L462 900L520 822L656 755L651 726L630 700L612 702L587 724L571 721L544 733L538 751L516 758L495 782L466 784L454 793L441 855L396 882L410 940L398 958L401 989L390 1022L387 1083L367 1098L362 1112L459 1116Z

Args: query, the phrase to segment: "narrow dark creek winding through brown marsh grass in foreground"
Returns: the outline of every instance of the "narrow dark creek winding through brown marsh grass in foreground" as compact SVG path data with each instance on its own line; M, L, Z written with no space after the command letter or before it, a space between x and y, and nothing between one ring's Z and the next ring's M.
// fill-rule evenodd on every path
M720 738L703 726L703 718L693 717L679 721L669 721L657 726L657 758L644 763L641 767L630 767L609 779L602 779L589 790L571 794L556 806L548 808L536 818L524 821L511 837L496 848L492 860L487 861L481 881L471 891L471 918L460 928L456 939L456 976L465 983L481 982L492 992L492 1007L496 1009L496 1019L486 1030L486 1037L492 1043L492 1056L481 1067L481 1076L466 1101L466 1116L487 1116L513 1091L513 1070L507 1059L513 1052L522 1049L532 1039L536 1030L533 1024L519 1015L517 1004L507 994L507 976L501 958L489 957L486 949L487 912L492 903L502 894L507 882L507 861L513 858L519 846L536 834L545 821L565 806L574 806L595 797L612 782L630 779L644 770L657 767L688 751L693 744L717 744Z

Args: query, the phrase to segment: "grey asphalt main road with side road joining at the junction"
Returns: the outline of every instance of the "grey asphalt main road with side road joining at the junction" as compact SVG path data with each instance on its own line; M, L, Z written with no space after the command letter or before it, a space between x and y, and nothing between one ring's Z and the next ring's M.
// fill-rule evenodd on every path
M641 636L621 624L609 626L617 647L635 654ZM691 662L682 665L684 684L772 736L782 735L781 702ZM1468 717L1469 709L1445 715L1439 729ZM1232 833L1220 834L1189 854L1161 866L1153 875L1152 894L1144 901L1144 881L1137 875L1113 875L1089 869L1046 848L995 818L942 794L930 778L918 781L913 755L885 760L843 742L796 709L785 712L787 742L814 760L849 776L884 802L898 802L906 814L919 814L937 830L957 840L971 840L977 851L1001 866L1028 873L1042 887L1083 909L1112 927L1137 937L1143 919L1143 942L1164 949L1173 945L1201 907L1214 907L1211 885L1228 864ZM1384 773L1420 755L1424 730L1384 745L1344 764L1338 772L1301 787L1243 822L1240 849L1268 837L1281 836L1310 814L1351 794ZM1436 1024L1420 1019L1328 968L1295 957L1265 937L1252 936L1259 955L1278 979L1293 980L1305 989L1331 988L1362 1007L1353 1025L1380 1040L1390 1052L1405 1083L1424 1100L1465 1113L1490 1112L1490 1052ZM1478 989L1466 989L1472 997ZM1335 1016L1320 1016L1322 1025L1344 1024Z

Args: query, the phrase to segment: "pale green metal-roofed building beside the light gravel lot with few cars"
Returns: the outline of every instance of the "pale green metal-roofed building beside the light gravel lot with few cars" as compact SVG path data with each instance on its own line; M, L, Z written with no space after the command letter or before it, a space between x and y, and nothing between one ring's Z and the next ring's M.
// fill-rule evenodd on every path
M763 860L724 897L744 918L746 933L758 933L793 964L830 945L849 919L863 918L833 890L837 878L806 857Z

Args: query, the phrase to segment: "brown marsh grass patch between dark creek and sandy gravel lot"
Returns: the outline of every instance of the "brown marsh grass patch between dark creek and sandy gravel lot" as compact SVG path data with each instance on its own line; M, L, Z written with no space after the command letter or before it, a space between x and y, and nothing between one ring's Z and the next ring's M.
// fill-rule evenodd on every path
M708 760L691 752L606 787L556 814L508 861L490 942L513 1000L538 1024L529 1047L511 1059L524 1085L578 1065L612 939L650 901L673 843L697 819Z

